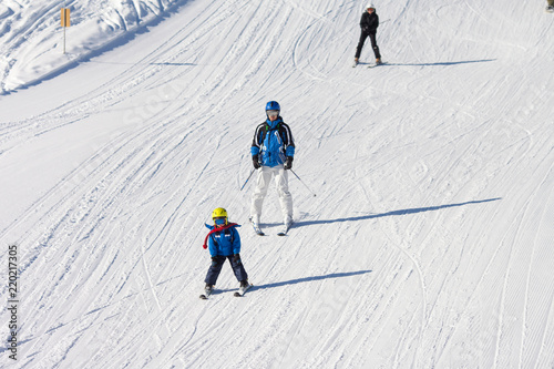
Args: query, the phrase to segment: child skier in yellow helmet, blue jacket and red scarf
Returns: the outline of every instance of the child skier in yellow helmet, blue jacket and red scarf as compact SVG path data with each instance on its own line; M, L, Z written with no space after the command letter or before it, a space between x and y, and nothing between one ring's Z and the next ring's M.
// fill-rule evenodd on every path
M212 265L209 266L205 279L206 295L203 296L205 298L212 294L226 259L229 260L235 277L237 277L240 283L240 291L244 294L244 291L249 288L249 284L248 275L240 259L240 236L236 229L239 225L236 223L228 223L227 211L223 207L218 207L212 213L212 219L214 221L214 225L211 226L206 224L206 227L211 230L203 246L204 248L208 248L212 255Z

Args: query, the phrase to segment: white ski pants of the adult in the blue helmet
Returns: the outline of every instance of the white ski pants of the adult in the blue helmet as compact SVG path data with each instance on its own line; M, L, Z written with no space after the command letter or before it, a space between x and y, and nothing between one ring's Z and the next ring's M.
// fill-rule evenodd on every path
M288 171L285 171L283 165L274 167L261 166L256 178L256 189L252 196L250 215L255 222L259 222L261 215L261 206L264 198L267 195L267 189L275 177L277 193L279 194L279 203L283 212L284 222L293 221L293 195L288 192Z

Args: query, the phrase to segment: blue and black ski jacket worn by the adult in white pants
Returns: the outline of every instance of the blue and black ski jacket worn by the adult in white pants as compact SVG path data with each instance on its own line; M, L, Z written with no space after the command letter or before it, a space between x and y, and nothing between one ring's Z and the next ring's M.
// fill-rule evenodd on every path
M250 147L252 155L258 155L264 166L277 166L295 156L295 141L288 124L279 116L275 122L267 119L256 127Z

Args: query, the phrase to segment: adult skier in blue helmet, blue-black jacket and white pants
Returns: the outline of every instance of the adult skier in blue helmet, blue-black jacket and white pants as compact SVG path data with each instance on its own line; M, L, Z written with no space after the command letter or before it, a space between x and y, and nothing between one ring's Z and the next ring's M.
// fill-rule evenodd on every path
M252 196L250 221L256 233L259 229L259 218L264 198L275 177L279 203L284 217L284 233L293 224L293 196L288 191L288 170L293 168L295 142L290 127L280 116L280 105L276 101L266 104L266 121L256 127L250 147L254 167L258 171L256 189Z

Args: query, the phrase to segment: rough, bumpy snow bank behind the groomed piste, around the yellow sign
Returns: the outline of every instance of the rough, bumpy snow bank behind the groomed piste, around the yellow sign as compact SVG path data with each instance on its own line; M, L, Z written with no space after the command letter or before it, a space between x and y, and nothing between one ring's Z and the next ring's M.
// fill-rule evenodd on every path
M186 0L3 0L0 93L35 84L124 43L183 3ZM70 10L65 34L62 8Z

